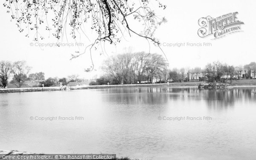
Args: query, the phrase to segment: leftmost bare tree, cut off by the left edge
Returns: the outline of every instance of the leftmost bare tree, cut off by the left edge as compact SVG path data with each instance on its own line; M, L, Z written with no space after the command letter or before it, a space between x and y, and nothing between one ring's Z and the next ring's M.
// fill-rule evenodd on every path
M8 84L8 79L12 73L12 64L9 61L0 61L0 82L3 88Z

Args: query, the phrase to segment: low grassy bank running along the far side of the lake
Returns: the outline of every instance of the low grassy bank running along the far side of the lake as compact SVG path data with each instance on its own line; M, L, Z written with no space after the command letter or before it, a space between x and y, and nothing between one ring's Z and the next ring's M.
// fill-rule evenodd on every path
M173 82L173 83L162 83L162 84L119 84L119 85L95 85L95 86L77 86L68 87L69 90L84 90L84 89L97 89L97 88L125 88L125 87L196 87L202 81L197 82ZM233 81L233 85L236 86L250 86L256 85L256 79L242 79L239 81ZM31 87L31 88L6 88L0 89L0 93L13 93L13 92L39 92L39 91L54 91L60 90L60 87Z

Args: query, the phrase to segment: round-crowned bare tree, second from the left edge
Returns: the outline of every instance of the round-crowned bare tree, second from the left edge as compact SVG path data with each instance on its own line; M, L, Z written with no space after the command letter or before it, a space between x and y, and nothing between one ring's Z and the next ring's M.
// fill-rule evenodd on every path
M16 61L13 63L12 66L12 73L13 73L13 82L17 82L18 86L21 87L21 85L24 83L24 81L27 80L27 74L31 70L31 67L29 67L26 64L26 61Z

